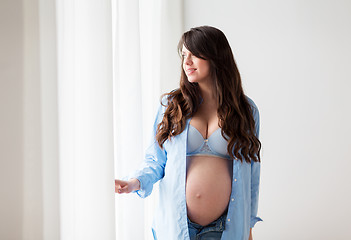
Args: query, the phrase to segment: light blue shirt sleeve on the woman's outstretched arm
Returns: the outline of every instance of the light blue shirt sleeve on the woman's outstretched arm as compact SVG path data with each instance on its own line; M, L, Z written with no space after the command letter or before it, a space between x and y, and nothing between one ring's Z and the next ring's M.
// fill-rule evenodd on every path
M162 99L164 102L165 97ZM141 198L149 196L153 185L163 178L164 168L167 161L165 149L161 149L156 141L157 125L162 121L164 106L160 104L153 124L152 136L149 146L146 148L144 161L140 168L128 176L129 179L136 178L140 182L140 190L135 191Z

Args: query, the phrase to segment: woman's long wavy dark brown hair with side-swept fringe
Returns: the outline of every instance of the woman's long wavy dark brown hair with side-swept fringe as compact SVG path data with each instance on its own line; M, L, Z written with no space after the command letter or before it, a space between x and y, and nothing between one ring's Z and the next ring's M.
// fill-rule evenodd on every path
M255 135L255 120L241 84L232 50L224 33L217 28L201 26L185 32L178 44L181 54L183 45L196 57L210 62L210 74L217 96L217 116L222 136L229 139L228 153L241 162L243 157L260 161L261 142ZM182 57L183 61L183 57ZM182 68L183 69L183 68ZM182 70L180 88L161 96L167 96L166 110L157 126L156 140L161 148L163 143L184 131L186 120L192 117L201 104L198 83L191 83ZM161 102L162 104L162 102ZM233 154L234 153L234 154Z

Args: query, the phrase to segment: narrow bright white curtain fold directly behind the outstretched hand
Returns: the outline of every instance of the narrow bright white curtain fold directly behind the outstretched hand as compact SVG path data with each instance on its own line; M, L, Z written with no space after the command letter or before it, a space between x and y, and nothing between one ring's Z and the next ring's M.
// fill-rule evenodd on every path
M113 3L115 172L121 178L142 157L139 1ZM116 197L115 205L117 239L144 239L143 203L123 195Z

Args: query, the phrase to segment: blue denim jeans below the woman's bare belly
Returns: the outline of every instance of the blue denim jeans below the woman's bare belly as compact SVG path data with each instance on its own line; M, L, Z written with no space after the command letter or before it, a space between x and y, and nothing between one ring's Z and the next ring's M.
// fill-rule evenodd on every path
M227 213L224 213L217 220L206 226L193 223L188 218L190 240L220 240L225 229L226 218Z

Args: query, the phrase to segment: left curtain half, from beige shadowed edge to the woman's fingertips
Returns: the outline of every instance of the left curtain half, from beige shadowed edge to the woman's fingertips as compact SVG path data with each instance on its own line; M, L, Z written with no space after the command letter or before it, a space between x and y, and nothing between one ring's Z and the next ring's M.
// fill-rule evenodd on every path
M19 224L0 238L115 239L111 1L6 6L23 21L23 59L11 66L23 71L23 102L12 105L23 116L23 184L14 187Z

